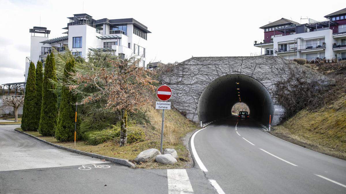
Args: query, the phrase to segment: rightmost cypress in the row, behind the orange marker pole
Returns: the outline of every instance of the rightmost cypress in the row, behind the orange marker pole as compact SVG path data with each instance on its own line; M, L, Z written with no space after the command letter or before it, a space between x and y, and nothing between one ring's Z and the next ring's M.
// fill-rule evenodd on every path
M64 69L64 83L70 80L71 72L74 70L74 59L66 62ZM76 96L66 86L62 87L61 103L59 108L58 124L55 131L55 137L58 141L72 141L74 139L74 120ZM79 119L77 123L77 132L79 131ZM79 134L79 133L78 133Z

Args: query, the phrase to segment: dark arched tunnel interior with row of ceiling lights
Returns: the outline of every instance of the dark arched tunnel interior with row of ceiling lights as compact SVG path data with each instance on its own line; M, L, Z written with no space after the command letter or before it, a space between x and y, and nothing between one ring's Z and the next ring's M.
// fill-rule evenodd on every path
M273 115L273 101L269 91L256 79L230 74L212 81L198 101L198 118L203 123L231 115L236 103L245 103L251 110L251 118L268 123Z

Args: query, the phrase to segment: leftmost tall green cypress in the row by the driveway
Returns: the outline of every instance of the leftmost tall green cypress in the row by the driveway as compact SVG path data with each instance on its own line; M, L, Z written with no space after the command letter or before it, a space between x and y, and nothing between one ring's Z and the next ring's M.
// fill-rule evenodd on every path
M25 86L23 115L20 126L22 130L37 130L38 126L36 114L36 73L35 64L31 61Z

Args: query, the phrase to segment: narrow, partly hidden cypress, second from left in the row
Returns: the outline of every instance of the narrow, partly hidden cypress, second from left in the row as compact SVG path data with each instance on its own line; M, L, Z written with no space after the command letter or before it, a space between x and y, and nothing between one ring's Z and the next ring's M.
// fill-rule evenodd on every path
M42 82L43 82L43 71L42 62L37 61L36 64L36 115L37 115L37 128L40 123L41 117L41 103L42 103Z

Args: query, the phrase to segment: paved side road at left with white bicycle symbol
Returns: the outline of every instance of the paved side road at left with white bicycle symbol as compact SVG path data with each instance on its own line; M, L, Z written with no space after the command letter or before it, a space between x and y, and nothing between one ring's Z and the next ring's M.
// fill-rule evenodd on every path
M132 169L58 149L17 127L0 125L0 194L216 193L199 168Z

